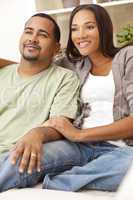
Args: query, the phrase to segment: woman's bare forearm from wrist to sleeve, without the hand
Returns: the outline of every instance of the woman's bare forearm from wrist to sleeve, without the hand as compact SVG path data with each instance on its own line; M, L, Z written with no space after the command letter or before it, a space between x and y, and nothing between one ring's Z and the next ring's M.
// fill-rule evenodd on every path
M133 117L112 124L81 130L80 141L118 140L133 137Z

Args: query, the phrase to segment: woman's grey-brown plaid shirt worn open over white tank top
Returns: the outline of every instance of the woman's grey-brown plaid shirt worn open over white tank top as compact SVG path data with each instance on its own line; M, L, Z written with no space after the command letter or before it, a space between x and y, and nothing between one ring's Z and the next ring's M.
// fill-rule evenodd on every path
M70 63L66 56L62 56L56 61L59 65L67 67L77 72L80 78L80 89L84 85L91 69L91 62L88 57L78 61L76 65ZM133 116L133 46L121 49L113 59L112 72L115 83L115 96L113 105L114 121ZM81 128L83 118L89 116L90 106L84 104L79 98L79 114L74 121L74 125ZM124 140L128 145L133 146L132 139Z

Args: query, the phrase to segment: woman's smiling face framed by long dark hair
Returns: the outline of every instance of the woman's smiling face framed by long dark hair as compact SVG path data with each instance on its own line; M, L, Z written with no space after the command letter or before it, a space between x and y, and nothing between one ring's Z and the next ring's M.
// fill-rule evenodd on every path
M99 32L92 11L81 10L72 20L71 37L82 56L91 56L99 52Z

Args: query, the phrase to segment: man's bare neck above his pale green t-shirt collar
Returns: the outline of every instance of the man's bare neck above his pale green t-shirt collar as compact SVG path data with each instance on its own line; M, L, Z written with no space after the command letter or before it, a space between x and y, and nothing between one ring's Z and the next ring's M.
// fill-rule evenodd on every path
M33 76L47 69L50 66L50 63L51 62L42 63L38 61L29 62L22 59L19 64L18 73L23 77Z

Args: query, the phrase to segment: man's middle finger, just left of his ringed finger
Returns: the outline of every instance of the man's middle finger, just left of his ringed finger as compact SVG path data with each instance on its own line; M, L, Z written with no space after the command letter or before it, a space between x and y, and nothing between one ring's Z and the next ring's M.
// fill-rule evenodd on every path
M26 148L23 152L20 165L19 165L19 172L23 173L24 170L27 168L30 159L30 149Z

